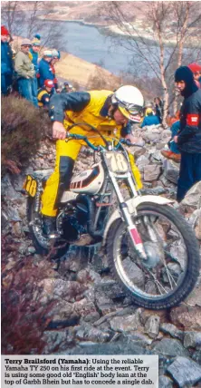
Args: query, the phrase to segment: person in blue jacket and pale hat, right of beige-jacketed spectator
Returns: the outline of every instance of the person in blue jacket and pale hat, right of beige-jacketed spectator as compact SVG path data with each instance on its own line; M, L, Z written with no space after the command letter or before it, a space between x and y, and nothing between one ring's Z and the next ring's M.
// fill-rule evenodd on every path
M51 50L45 50L43 52L43 58L39 63L39 85L43 88L45 80L54 80L53 67L51 61L53 59L53 53Z

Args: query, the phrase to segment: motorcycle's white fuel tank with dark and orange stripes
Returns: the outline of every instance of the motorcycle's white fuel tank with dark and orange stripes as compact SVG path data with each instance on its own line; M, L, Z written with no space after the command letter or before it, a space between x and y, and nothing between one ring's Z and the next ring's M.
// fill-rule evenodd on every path
M81 171L72 177L70 191L95 195L101 190L105 174L101 163L94 164L90 170Z

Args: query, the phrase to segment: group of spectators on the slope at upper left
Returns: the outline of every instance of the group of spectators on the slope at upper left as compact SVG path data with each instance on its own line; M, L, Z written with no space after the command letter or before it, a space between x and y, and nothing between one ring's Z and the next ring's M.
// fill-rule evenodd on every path
M35 107L48 108L54 92L72 92L69 82L62 88L56 78L55 63L60 60L60 52L42 51L41 36L34 39L23 39L17 53L12 50L11 34L1 26L1 93L3 96L17 92L24 99L32 102Z

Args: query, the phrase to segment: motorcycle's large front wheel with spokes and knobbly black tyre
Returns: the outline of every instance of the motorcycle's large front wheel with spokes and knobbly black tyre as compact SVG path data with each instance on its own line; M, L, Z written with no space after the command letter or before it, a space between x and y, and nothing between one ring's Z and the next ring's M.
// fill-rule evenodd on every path
M147 260L139 257L121 218L110 226L106 243L110 270L136 305L153 310L177 306L196 285L199 247L193 229L167 205L139 205L133 221Z

